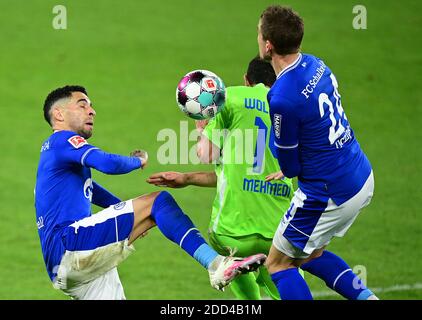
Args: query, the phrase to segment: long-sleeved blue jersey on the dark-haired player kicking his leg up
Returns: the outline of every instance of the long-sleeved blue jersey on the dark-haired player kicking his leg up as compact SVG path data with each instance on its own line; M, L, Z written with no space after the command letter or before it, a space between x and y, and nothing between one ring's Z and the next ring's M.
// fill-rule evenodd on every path
M122 174L140 166L139 158L103 152L71 131L55 132L43 143L35 209L41 249L51 279L65 252L62 230L90 216L91 202L105 208L120 201L92 181L90 168Z

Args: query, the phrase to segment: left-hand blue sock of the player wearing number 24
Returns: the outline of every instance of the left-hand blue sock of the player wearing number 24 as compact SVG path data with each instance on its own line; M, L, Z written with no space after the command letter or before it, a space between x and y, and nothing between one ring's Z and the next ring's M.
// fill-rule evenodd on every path
M298 268L278 271L271 275L281 300L312 300L312 294Z

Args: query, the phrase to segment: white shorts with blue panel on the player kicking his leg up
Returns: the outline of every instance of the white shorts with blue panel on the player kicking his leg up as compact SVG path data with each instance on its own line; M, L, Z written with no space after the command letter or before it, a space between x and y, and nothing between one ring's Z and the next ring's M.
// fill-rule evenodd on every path
M129 200L68 226L53 286L74 299L124 299L116 267L135 250L128 245L133 221Z

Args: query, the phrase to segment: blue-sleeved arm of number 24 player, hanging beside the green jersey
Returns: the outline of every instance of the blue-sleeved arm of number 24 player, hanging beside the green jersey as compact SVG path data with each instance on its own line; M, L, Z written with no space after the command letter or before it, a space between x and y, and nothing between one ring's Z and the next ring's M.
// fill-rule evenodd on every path
M298 109L289 100L274 96L271 99L270 114L280 168L284 176L296 177L301 171Z

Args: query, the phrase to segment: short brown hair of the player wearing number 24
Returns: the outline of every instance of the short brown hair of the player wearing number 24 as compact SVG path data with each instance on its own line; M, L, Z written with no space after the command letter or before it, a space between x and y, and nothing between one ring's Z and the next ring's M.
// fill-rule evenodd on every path
M302 18L291 8L269 6L261 14L261 34L279 55L297 53L304 33Z

